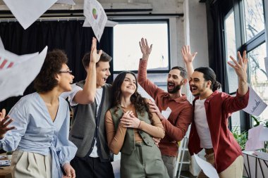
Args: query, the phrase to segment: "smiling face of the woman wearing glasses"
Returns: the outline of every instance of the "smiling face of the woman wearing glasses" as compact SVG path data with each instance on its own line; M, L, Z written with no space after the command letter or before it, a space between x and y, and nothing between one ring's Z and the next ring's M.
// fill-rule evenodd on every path
M58 81L60 89L64 91L71 91L71 84L73 83L74 76L71 75L71 70L68 68L66 63L63 63L61 70L58 74Z

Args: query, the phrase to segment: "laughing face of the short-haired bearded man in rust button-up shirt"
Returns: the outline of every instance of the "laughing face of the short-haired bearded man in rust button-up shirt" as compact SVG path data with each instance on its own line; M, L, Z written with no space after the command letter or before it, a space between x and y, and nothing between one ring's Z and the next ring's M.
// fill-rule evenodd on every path
M178 69L173 69L169 71L167 77L167 91L169 94L175 94L183 86L183 77L181 77L181 71Z

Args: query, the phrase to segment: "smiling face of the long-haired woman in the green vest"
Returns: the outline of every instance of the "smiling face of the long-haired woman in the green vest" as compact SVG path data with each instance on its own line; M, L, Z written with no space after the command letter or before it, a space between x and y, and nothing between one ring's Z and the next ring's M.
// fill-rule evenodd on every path
M132 95L135 93L136 89L137 89L136 78L132 74L127 73L125 79L123 80L123 83L121 84L122 94Z

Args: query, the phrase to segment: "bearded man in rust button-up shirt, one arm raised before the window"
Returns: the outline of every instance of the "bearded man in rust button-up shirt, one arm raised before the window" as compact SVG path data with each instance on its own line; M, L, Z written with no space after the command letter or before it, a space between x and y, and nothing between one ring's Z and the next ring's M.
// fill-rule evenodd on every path
M187 72L181 67L174 67L169 71L167 77L168 92L160 89L147 79L147 61L152 51L152 45L147 44L146 39L141 39L140 49L142 58L138 70L138 83L147 91L154 102L150 102L151 112L157 113L165 129L165 136L159 143L162 159L169 172L169 177L173 178L173 168L176 165L178 155L178 141L181 141L192 122L193 109L181 88L187 83ZM169 118L165 118L161 111L166 108L171 109Z

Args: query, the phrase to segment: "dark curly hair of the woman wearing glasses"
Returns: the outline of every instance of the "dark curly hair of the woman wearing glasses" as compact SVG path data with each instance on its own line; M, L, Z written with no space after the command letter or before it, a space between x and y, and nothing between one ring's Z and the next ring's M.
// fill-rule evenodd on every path
M56 87L58 81L56 80L55 75L59 73L62 65L67 62L68 58L66 53L60 49L54 49L53 51L48 52L42 68L34 81L34 87L37 92L42 93L51 91Z

